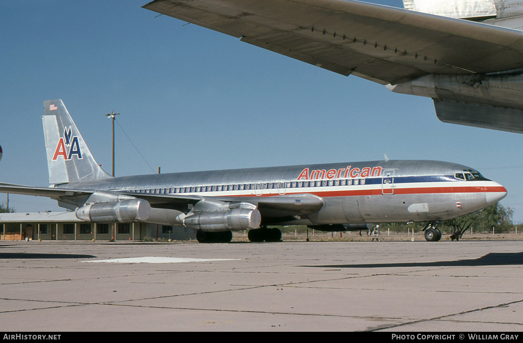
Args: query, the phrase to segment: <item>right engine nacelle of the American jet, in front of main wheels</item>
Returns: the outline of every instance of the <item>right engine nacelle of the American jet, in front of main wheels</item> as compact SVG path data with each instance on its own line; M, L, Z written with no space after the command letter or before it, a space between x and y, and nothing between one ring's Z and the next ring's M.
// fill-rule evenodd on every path
M256 209L237 208L229 211L207 211L184 218L184 225L194 230L219 232L258 228L260 212Z

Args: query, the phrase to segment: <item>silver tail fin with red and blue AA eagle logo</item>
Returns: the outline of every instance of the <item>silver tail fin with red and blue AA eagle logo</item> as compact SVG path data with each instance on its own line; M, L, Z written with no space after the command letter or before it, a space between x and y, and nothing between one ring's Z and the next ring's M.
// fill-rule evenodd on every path
M61 99L43 102L49 183L65 184L110 178L96 163Z

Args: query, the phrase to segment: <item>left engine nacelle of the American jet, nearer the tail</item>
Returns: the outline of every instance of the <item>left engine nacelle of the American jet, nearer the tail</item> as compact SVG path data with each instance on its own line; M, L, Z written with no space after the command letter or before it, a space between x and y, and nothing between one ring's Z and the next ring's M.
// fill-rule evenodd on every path
M76 210L78 219L93 223L132 223L145 221L150 215L151 205L142 199L94 203Z

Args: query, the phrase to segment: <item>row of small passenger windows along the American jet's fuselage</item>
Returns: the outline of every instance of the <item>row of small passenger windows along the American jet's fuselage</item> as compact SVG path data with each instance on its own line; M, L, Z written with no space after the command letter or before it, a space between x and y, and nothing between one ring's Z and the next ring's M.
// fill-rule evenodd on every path
M286 189L329 186L365 185L365 179L349 180L322 180L322 181L293 181L293 182L265 182L263 184L240 184L198 187L173 187L156 189L131 190L135 193L169 194L169 193L194 193L194 192L221 192L232 190L261 190L261 189Z

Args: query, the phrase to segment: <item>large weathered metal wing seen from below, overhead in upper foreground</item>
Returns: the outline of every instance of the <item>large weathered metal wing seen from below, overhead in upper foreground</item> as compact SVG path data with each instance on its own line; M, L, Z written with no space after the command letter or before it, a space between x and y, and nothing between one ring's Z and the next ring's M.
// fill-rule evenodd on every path
M521 31L357 1L156 0L143 7L381 84L523 67Z

